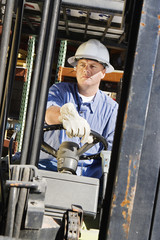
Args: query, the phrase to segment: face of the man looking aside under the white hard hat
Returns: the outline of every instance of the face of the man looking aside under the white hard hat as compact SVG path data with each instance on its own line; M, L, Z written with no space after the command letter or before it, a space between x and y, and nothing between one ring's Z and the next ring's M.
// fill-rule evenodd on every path
M103 78L103 74L105 74L105 69L99 62L88 59L80 59L78 61L76 67L76 77L79 86L99 86L99 83Z

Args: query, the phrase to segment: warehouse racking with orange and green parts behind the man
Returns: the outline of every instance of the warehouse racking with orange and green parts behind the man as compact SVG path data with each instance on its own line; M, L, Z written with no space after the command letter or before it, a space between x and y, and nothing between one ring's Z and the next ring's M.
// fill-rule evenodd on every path
M5 0L2 0L0 3L1 34L5 4ZM30 78L32 78L31 71L34 69L43 4L43 1L26 1L24 4L20 45L6 130L6 146L8 146L8 139L13 134L14 129L20 129L20 125L22 124L20 116L23 115L23 105L26 96L25 91L29 91L27 89L30 83L28 83L27 86L27 82L31 81L31 79L27 80L27 78L29 78L29 74L31 75ZM108 79L106 77L106 81L101 82L100 88L112 95L114 99L116 99L117 95L117 101L119 101L128 43L129 9L130 6L126 6L126 1L106 2L104 4L102 3L102 6L98 8L94 3L92 8L89 7L88 4L85 10L83 4L76 6L72 1L70 3L63 1L58 22L50 84L62 81L62 78L63 81L75 81L75 77L70 76L70 73L69 76L60 76L63 74L60 68L70 68L67 62L68 57L74 55L77 47L82 42L96 38L108 48L111 64L114 66L115 71L117 71L117 80L116 77L111 76L111 78L115 78L112 80L109 79L108 76ZM15 12L13 13L13 26L15 21L14 15L16 16ZM30 58L32 59L30 60ZM72 69L69 69L69 71L72 71ZM29 92L27 94L29 94ZM16 143L16 148L17 144L18 143ZM5 150L7 149L5 149L4 146L3 155L6 154Z

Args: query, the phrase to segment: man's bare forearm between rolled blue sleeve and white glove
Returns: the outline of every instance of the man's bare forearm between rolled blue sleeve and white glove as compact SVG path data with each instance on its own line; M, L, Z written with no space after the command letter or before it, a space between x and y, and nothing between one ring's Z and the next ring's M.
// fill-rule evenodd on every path
M61 122L58 119L59 116L60 116L60 107L58 107L58 106L51 106L46 111L45 122L48 125L60 124Z

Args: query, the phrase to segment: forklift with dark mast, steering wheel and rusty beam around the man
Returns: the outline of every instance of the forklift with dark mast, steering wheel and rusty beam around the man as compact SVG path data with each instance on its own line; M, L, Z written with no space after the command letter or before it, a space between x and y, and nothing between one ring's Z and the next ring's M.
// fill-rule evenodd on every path
M7 157L2 157L2 150L20 35L24 30L24 5L32 2L40 2L41 24L36 32L37 53L20 162L13 163L15 134L11 137ZM0 47L0 239L158 240L160 2L6 0L0 6L5 7ZM74 174L77 161L85 159L85 152L92 144L79 148L72 142L65 142L54 149L43 141L45 131L62 129L61 125L44 126L56 39L62 38L58 21L62 12L67 24L74 19L62 9L68 12L68 9L80 9L81 14L88 10L86 19L90 16L89 10L106 12L112 15L108 24L113 26L115 12L123 16L125 28L118 42L123 42L127 49L111 153L107 151L105 139L91 131L92 144L102 142L104 146L100 153L104 166L101 182ZM84 18L80 21L83 23ZM30 26L29 20L27 22ZM65 38L69 39L67 24ZM107 31L108 27L101 38L106 44L110 42ZM75 35L73 33L71 38ZM41 149L57 158L58 172L37 168Z

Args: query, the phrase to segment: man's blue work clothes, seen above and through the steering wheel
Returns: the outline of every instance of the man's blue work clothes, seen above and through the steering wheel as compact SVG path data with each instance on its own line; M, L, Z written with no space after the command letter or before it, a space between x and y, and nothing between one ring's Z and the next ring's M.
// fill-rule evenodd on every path
M83 103L78 93L77 83L57 83L50 87L47 108L51 106L62 107L65 103L74 104L79 115L87 120L91 130L94 130L106 138L108 150L112 149L114 130L117 118L118 104L103 91L98 90L92 101ZM44 141L54 149L58 149L64 141L73 141L81 147L80 138L69 138L65 130L49 131L44 133ZM97 143L89 149L85 155L96 154L103 149L102 143ZM57 170L57 160L53 156L40 153L39 168L44 170ZM77 175L100 178L102 175L101 160L79 161Z

